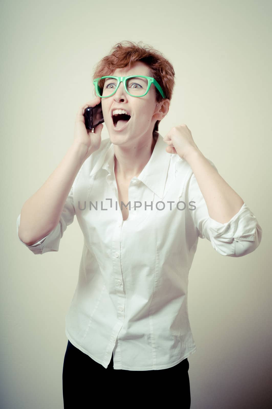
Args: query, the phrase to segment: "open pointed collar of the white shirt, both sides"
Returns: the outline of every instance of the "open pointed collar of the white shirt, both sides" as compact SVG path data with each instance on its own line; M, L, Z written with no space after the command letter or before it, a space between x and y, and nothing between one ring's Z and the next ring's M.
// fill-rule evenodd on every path
M166 152L166 144L163 141L161 134L158 134L157 142L154 146L150 160L147 162L138 178L149 189L152 190L159 198L163 198L163 192L165 188L165 182L170 164L170 153ZM105 169L109 173L113 172L114 166L114 145L110 142L105 147L104 153L102 153L97 160L90 176L97 173L100 169Z

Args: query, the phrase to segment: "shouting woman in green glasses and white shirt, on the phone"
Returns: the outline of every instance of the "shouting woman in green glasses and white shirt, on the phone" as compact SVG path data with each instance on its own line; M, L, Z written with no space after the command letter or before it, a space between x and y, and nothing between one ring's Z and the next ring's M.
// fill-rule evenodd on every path
M65 408L77 407L79 396L82 404L91 402L90 392L102 382L105 391L121 387L134 402L143 387L145 399L157 403L178 388L189 408L187 358L196 346L187 290L198 238L231 257L261 242L256 217L187 126L174 126L164 138L158 133L174 76L152 47L114 46L95 69L95 99L77 112L73 145L18 216L18 237L34 254L58 251L75 214L84 234L66 315ZM84 123L87 106L100 101L109 132L104 140L102 124L91 133ZM156 380L163 382L159 393L153 393ZM136 395L131 381L141 382Z

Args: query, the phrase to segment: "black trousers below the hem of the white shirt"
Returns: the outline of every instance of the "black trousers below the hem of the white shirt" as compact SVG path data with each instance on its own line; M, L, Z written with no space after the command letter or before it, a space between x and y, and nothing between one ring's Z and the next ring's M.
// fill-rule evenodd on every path
M172 368L158 371L113 369L113 355L106 369L68 340L62 372L64 409L85 409L107 403L172 405L176 401L180 409L189 409L188 369L187 358Z

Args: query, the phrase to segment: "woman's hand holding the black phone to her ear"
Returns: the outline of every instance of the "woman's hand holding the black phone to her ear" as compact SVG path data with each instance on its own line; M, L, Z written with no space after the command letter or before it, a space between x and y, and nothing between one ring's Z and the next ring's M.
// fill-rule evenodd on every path
M103 128L102 124L102 119L100 112L100 108L97 110L97 114L95 113L95 121L93 121L93 124L90 123L90 126L92 126L93 130L90 130L90 128L86 128L85 124L85 112L86 108L94 108L96 106L99 106L101 104L101 98L96 97L95 99L88 101L84 105L82 105L79 110L77 111L77 116L75 120L75 131L74 131L74 142L73 144L80 146L81 152L82 152L82 160L84 161L94 152L97 151L97 149L100 148L101 145L101 131ZM102 112L102 107L101 107L101 112ZM97 115L97 116L96 116ZM100 115L99 121L97 121L98 117ZM93 115L92 115L93 116ZM103 119L104 121L104 119Z

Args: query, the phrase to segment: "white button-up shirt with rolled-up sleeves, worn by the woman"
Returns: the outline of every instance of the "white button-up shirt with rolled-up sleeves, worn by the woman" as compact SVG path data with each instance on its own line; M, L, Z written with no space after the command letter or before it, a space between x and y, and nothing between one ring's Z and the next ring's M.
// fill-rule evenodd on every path
M150 160L129 184L129 201L141 207L131 206L123 221L114 145L102 140L80 168L57 227L27 245L34 254L58 251L77 216L84 246L65 332L104 368L112 352L113 368L131 371L170 368L193 354L187 290L198 238L230 257L253 252L261 242L262 229L245 203L227 223L211 219L190 165L165 148L159 134ZM20 215L17 235L19 223Z

